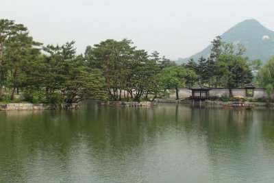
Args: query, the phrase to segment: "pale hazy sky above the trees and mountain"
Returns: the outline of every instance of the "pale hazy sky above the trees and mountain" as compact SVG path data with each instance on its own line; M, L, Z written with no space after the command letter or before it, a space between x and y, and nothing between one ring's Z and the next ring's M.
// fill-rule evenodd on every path
M256 19L274 30L273 0L1 0L0 19L23 23L34 40L77 53L112 38L172 60L186 58L227 29Z

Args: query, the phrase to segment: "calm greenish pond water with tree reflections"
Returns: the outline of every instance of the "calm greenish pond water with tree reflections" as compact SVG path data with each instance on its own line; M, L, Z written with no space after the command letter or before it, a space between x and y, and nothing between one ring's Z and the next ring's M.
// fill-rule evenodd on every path
M0 182L273 182L274 110L0 112Z

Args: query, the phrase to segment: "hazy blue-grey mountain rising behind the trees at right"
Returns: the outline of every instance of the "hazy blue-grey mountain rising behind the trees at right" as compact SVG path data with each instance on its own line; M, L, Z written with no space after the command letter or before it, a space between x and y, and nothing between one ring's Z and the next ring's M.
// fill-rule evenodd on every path
M238 23L221 35L224 42L234 44L240 43L245 46L244 56L250 60L260 59L266 63L271 56L274 56L274 32L266 29L258 21L251 19ZM196 53L190 58L197 61L201 56L208 58L212 45ZM188 62L190 58L179 58L176 63L182 64Z

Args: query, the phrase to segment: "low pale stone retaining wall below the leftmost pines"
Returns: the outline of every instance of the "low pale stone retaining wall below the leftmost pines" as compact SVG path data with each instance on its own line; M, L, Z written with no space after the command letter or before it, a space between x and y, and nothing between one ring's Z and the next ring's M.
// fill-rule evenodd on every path
M79 109L79 103L60 105L43 103L0 103L0 110L53 110L53 109Z

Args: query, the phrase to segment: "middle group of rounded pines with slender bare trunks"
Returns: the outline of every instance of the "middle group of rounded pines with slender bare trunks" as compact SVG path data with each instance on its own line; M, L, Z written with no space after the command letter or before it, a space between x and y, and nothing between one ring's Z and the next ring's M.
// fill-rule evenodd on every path
M166 73L166 69L179 69L175 62L160 58L158 52L151 56L136 49L131 40L105 40L94 47L87 47L85 58L88 66L101 69L105 77L105 90L110 99L140 101L155 99L168 94L167 90L184 86L184 77ZM185 71L186 72L186 71ZM167 77L178 77L178 84L169 84ZM179 83L182 83L179 85Z

